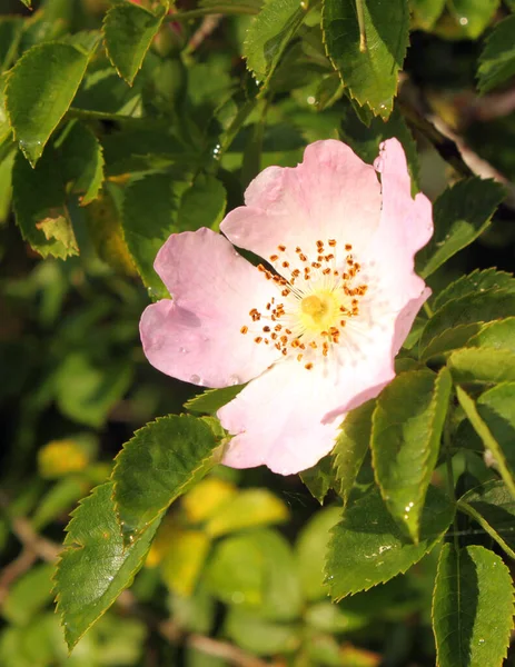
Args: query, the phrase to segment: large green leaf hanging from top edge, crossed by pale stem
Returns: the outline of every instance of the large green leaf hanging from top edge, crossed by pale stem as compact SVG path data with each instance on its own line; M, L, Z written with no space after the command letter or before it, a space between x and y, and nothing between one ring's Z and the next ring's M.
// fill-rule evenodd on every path
M362 107L387 119L408 46L407 0L363 0L366 42L360 42L355 0L324 0L327 53L344 86Z

